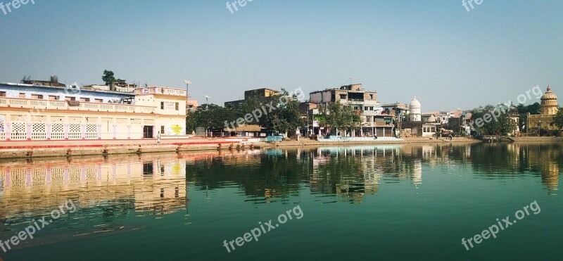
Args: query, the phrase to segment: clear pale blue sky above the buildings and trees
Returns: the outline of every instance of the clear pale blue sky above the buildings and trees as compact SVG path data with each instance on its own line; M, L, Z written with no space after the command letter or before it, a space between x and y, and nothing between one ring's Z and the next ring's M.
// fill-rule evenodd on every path
M6 6L8 0L0 0ZM231 6L234 0L229 1ZM243 91L360 83L423 112L563 97L563 1L30 0L0 10L0 82L103 84L103 70L222 105ZM6 8L5 8L6 9ZM538 101L535 97L526 101Z

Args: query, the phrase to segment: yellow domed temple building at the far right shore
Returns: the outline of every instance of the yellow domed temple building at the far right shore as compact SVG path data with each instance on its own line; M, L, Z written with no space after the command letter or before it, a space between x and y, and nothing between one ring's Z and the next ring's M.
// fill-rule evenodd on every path
M559 110L557 95L555 95L548 86L547 91L545 91L545 94L543 94L540 99L540 114L528 114L528 129L541 126L542 129L557 130L558 127L555 126L555 122L553 122L553 117Z

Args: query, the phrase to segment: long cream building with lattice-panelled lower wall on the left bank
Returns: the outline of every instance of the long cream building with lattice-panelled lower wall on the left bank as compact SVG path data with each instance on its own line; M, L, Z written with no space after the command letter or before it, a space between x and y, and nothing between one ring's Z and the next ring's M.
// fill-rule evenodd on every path
M150 139L185 135L186 90L134 93L0 83L0 141Z

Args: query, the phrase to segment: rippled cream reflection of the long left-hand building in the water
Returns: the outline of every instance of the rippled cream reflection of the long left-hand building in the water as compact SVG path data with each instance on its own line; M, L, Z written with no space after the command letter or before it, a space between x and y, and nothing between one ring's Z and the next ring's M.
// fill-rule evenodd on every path
M0 213L4 219L27 212L44 215L42 211L68 199L79 208L120 200L130 201L136 212L163 215L185 210L186 160L174 155L159 157L146 154L1 163Z

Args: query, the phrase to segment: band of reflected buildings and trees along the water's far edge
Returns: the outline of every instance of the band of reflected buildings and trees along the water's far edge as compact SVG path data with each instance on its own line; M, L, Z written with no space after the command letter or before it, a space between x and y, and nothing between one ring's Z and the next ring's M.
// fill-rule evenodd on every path
M0 219L18 223L68 199L101 213L104 222L131 213L154 217L187 212L189 186L206 192L236 188L253 203L286 202L301 193L326 196L322 203L362 203L385 184L423 186L424 175L436 168L464 170L477 179L540 176L545 189L555 194L560 151L559 144L445 143L4 161Z

